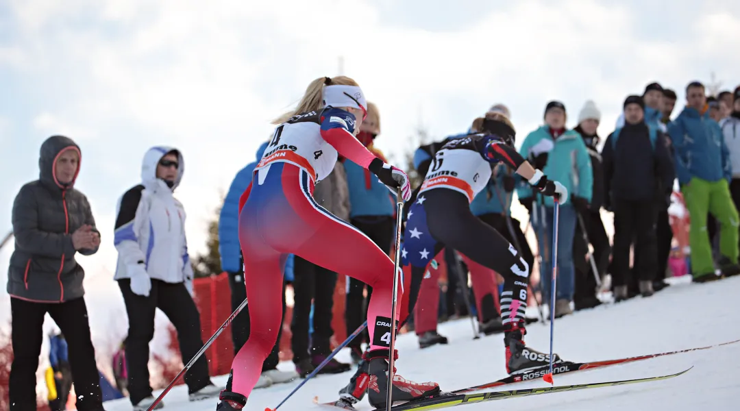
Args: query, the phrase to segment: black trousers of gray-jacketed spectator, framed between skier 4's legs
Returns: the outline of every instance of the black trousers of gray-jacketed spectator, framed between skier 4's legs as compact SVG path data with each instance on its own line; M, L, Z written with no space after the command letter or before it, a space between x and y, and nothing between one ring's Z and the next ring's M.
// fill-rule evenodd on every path
M328 356L332 352L329 340L334 335L332 319L334 318L334 288L337 285L337 273L315 265L298 256L293 260L293 319L290 324L292 332L291 347L293 362L297 364L311 354ZM314 305L314 333L309 344L309 325L311 322L311 302Z

